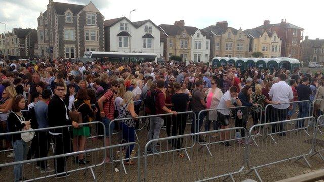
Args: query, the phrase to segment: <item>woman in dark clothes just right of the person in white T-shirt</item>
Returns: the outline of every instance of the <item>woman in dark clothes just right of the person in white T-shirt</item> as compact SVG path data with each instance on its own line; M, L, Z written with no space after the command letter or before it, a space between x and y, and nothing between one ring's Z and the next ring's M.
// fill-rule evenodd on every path
M251 106L258 106L258 104L253 104L252 98L252 88L249 85L245 85L241 92L238 94L239 100L242 102L242 106L246 106L244 108L240 108L241 112L243 113L242 118L240 119L236 112L235 112L235 127L243 127L247 128L247 121L248 121L248 116L249 116L249 110ZM236 131L237 132L237 131ZM244 144L247 143L248 141L244 140L245 133L244 130L241 130L241 137L242 139L238 140L238 143ZM249 143L250 145L253 145L252 142Z

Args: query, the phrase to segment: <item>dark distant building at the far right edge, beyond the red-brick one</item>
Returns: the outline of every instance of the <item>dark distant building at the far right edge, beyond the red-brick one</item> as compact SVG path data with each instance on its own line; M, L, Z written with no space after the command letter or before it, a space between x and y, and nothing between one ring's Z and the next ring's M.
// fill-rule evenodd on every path
M300 43L301 45L301 59L304 65L309 62L324 63L324 40L316 38L315 40L308 39L305 36L305 40Z

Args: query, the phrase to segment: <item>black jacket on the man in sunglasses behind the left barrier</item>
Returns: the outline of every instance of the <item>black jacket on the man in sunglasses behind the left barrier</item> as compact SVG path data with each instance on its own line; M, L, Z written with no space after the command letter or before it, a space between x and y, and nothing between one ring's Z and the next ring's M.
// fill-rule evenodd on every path
M66 113L67 115L69 115L67 106L65 105L64 101L62 101L59 96L54 95L48 105L49 126L55 127L72 125L72 121L70 119L66 119ZM68 128L60 128L55 130L52 129L50 131L55 133L62 133L64 131L68 131Z

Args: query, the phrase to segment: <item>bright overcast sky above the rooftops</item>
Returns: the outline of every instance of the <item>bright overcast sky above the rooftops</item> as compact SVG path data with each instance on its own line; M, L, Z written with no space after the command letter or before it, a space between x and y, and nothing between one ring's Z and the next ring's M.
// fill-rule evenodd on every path
M86 5L89 0L56 0L57 2ZM263 24L286 22L304 28L304 37L324 39L323 10L321 1L148 1L148 0L93 0L92 1L105 19L121 16L131 21L151 19L156 25L173 24L176 20L184 20L186 26L203 29L214 25L217 21L227 20L228 26L243 30ZM0 0L0 22L12 28L37 28L39 13L46 10L46 0ZM0 24L0 32L4 32Z

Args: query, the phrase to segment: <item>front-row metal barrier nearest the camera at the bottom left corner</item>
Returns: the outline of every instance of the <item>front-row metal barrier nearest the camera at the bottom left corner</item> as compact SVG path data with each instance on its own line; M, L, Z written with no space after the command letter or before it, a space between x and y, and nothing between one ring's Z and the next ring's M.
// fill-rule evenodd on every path
M105 176L101 176L101 178L110 178L112 181L113 179L115 178L116 174L114 174L114 172L116 171L116 166L113 165L113 164L106 164L104 163L104 158L101 158L100 160L102 161L100 164L85 164L84 167L82 168L77 168L77 169L69 169L67 168L67 171L66 172L61 172L61 173L57 173L57 174L50 174L50 175L46 175L46 176L42 176L42 175L39 175L39 173L36 173L34 168L28 168L28 167L25 167L26 165L28 165L28 163L35 163L35 162L39 162L39 161L44 161L44 160L50 160L50 159L54 159L56 160L57 158L64 158L64 161L66 163L69 162L68 160L68 157L70 156L75 156L75 155L79 155L79 154L82 154L82 153L105 153L106 150L109 150L109 149L114 149L114 148L125 148L127 146L130 146L130 145L135 145L137 147L137 181L140 181L140 177L141 177L141 174L140 174L140 147L137 143L135 142L130 142L130 143L125 143L125 144L118 144L118 145L112 145L112 146L105 146L105 147L100 147L100 148L95 148L95 149L89 149L89 150L85 150L85 151L78 151L78 152L72 152L72 153L65 153L65 154L60 154L60 155L53 155L53 156L48 156L48 157L42 157L42 158L37 158L37 159L30 159L30 160L23 160L23 161L16 161L16 162L10 162L10 163L3 163L3 164L0 164L0 167L7 169L7 168L12 168L11 166L14 166L14 165L22 165L22 173L23 173L23 177L26 177L26 178L29 178L28 180L24 180L24 181L34 181L34 180L39 180L39 179L46 179L46 178L49 178L49 177L54 177L56 175L60 175L60 174L68 174L68 173L72 173L72 172L78 172L78 171L82 171L82 170L85 170L84 171L84 175L87 174L87 170L90 169L91 171L91 174L92 174L92 177L94 179L94 181L97 181L97 177L95 175L95 172L93 170L94 167L97 167L99 168L99 170L101 171L105 171L105 172L100 172L99 175L105 175ZM123 162L125 160L130 160L130 159L125 159L123 157L121 157L118 162L124 164ZM107 167L107 165L110 166L110 174L108 174L107 171L109 171L109 166ZM31 170L31 171L30 171ZM13 171L13 170L11 170ZM13 172L11 172L12 174ZM6 174L8 174L6 172ZM136 174L135 174L136 175ZM12 175L13 176L13 175ZM120 176L122 177L122 176ZM126 176L128 177L128 176ZM6 180L8 179L8 181L12 181L13 178L12 177L9 177L9 176L6 176L6 178L3 178L3 180ZM82 180L82 179L80 179ZM87 179L84 179L84 180L87 180ZM132 179L128 179L128 181L134 181L134 178Z

